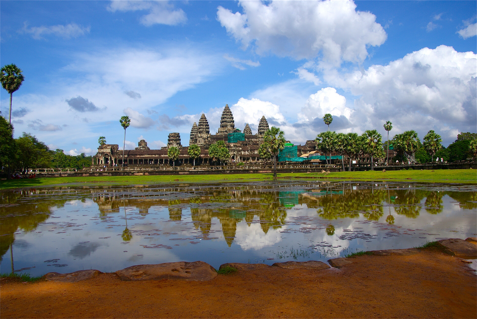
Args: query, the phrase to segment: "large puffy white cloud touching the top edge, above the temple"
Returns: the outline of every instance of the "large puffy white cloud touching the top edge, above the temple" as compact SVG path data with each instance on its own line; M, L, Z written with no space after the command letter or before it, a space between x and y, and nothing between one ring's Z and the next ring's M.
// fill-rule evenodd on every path
M386 32L370 12L353 1L241 1L243 13L218 7L227 32L259 54L296 59L321 57L333 65L361 62L368 46L379 46Z

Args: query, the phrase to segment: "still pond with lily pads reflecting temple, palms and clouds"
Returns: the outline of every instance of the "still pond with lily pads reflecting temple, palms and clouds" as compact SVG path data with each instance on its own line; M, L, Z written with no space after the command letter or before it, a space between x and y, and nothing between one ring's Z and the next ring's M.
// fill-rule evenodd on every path
M477 187L270 181L0 192L1 272L321 260L475 237ZM11 248L11 249L10 249Z

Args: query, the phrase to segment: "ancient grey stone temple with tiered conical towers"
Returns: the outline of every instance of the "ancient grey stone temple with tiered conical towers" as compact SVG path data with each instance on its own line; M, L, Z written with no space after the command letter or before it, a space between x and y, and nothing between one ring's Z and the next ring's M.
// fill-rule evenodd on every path
M205 114L202 114L197 125L192 125L189 135L189 145L196 144L200 147L200 158L196 159L196 165L209 165L211 159L208 155L208 148L211 144L223 141L230 153L228 163L257 163L265 161L260 159L258 150L263 142L263 134L269 130L269 124L265 116L259 120L258 131L253 134L249 123L246 123L243 131L235 127L232 111L225 105L220 118L220 126L216 134L210 134L210 127ZM167 156L167 150L177 147L180 151L179 159L175 165L192 165L193 160L187 154L188 146L183 147L179 133L169 133L167 146L160 150L151 150L145 140L140 140L135 150L124 151L124 164L127 166L156 167L157 165L172 165L172 161ZM316 143L309 140L303 146L297 146L297 155L305 154L316 150ZM123 164L123 150L118 144L104 144L98 147L98 152L93 156L93 166L121 166Z

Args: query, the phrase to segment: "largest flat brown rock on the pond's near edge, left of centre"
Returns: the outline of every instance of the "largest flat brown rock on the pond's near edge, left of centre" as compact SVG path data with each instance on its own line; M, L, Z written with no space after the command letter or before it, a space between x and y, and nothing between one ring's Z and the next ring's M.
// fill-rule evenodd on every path
M214 267L203 261L166 262L156 265L136 265L116 271L121 280L194 280L207 281L217 276Z

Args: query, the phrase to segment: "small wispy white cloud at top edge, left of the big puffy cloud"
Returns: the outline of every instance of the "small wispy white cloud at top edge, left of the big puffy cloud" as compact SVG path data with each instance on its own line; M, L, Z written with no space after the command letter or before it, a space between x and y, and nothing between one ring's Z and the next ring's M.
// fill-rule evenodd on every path
M182 9L174 10L174 5L168 1L111 1L107 8L111 12L148 10L140 21L145 26L154 24L177 25L187 22L186 13Z

